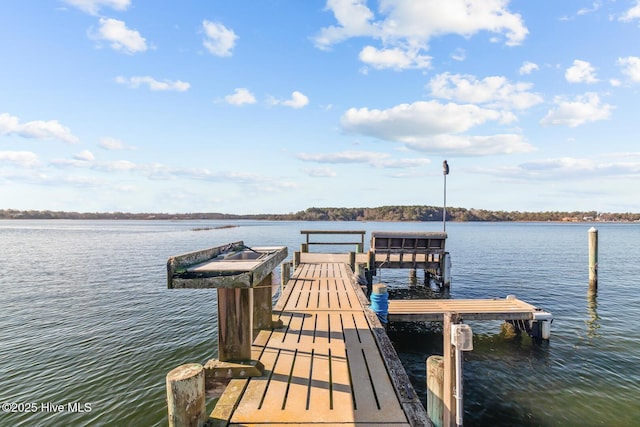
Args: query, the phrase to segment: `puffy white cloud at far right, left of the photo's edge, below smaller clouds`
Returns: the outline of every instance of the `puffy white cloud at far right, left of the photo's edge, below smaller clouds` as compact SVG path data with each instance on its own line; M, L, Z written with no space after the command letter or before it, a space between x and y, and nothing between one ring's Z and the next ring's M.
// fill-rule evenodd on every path
M550 110L540 124L577 127L588 122L609 119L614 108L601 103L600 97L595 93L576 96L573 100L556 97L554 103L556 108Z

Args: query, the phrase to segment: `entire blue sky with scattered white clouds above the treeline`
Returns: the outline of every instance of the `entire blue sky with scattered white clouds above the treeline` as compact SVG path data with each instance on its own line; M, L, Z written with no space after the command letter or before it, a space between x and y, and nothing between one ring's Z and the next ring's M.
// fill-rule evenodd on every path
M469 5L467 5L469 3ZM10 0L0 208L640 211L640 1Z

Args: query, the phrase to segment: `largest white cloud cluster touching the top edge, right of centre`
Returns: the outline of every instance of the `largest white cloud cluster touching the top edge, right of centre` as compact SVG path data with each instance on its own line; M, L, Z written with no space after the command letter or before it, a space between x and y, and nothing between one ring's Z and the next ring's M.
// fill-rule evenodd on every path
M508 10L507 0L383 0L379 19L366 0L328 0L337 25L324 27L314 37L316 47L329 49L352 37L370 37L380 47L367 46L360 59L374 68L428 68L424 55L433 37L458 34L470 37L481 31L504 35L509 46L528 34L522 17Z

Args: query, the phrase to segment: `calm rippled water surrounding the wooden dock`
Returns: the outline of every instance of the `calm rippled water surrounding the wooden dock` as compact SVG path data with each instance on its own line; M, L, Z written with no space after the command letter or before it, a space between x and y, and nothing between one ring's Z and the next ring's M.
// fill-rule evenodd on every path
M226 224L238 227L193 231ZM506 339L500 322L471 323L465 425L640 425L640 224L597 224L597 296L588 293L590 227L447 224L453 298L515 294L555 317L547 345ZM236 240L292 254L309 228L441 224L0 221L0 402L22 411L1 412L0 426L166 425L166 373L217 356L215 291L167 290L167 258ZM430 293L406 270L381 279L395 295ZM438 328L390 331L423 401Z

